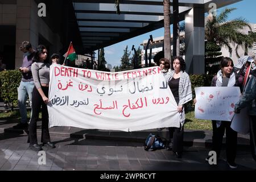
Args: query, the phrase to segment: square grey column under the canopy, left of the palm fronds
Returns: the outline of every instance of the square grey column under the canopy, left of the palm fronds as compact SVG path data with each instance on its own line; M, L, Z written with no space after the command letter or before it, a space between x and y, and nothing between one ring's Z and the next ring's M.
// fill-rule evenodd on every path
M204 8L195 7L185 14L185 62L187 73L205 73Z

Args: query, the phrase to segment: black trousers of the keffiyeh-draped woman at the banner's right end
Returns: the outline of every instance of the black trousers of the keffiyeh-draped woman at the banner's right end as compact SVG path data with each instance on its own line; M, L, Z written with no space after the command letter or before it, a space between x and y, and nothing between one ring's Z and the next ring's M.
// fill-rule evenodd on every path
M172 142L172 151L181 154L183 152L184 126L169 127L169 142Z

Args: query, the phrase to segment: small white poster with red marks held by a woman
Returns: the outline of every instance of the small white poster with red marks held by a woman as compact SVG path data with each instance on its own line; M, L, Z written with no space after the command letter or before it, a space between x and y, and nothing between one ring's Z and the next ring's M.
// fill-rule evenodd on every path
M195 118L232 121L234 105L240 98L237 86L202 86L195 88Z

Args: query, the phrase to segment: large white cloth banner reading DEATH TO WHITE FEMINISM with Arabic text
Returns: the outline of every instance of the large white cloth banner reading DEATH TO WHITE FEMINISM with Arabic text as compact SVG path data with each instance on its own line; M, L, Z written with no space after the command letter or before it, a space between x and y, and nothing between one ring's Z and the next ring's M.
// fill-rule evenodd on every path
M180 126L159 67L111 73L53 64L49 100L49 127L137 131Z

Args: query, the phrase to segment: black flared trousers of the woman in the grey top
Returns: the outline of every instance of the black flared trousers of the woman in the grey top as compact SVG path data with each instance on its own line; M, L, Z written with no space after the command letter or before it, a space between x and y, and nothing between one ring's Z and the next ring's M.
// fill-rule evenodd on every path
M48 87L42 86L42 90L46 97L48 97ZM38 92L38 89L34 87L32 91L32 116L30 119L30 126L29 126L29 137L30 137L30 144L38 143L38 137L36 135L36 122L38 121L39 113L42 106L42 135L41 135L41 142L47 143L51 142L49 137L49 118L48 118L48 110L47 105L44 103L41 95Z

